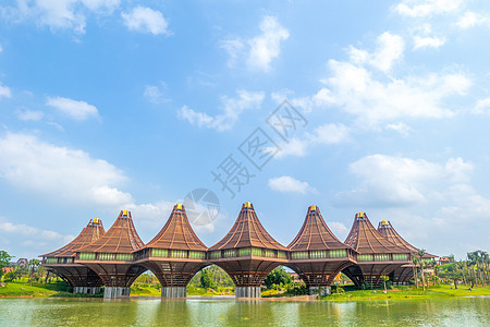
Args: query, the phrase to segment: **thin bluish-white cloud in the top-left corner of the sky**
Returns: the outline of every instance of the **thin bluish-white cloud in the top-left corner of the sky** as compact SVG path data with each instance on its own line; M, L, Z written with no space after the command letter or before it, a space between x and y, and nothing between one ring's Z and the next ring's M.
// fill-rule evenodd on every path
M51 29L70 28L84 34L88 13L111 14L120 0L19 0L4 8L4 15L14 22L34 21Z

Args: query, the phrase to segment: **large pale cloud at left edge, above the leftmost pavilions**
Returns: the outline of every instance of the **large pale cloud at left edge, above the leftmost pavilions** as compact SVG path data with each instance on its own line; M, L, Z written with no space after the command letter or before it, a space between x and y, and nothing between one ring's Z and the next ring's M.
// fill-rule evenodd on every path
M120 206L133 201L117 189L126 180L123 172L83 150L8 133L0 138L0 179L14 187L77 204Z

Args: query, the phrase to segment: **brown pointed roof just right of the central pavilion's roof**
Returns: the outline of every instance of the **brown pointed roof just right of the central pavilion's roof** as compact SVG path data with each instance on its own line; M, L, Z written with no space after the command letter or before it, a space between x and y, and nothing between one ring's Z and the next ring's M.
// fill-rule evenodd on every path
M321 217L320 209L309 206L303 227L293 242L287 245L291 251L350 249L330 230Z

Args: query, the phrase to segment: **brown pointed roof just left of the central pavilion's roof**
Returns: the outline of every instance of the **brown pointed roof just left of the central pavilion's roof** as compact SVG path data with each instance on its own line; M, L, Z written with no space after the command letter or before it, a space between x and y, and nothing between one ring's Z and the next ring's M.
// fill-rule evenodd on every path
M208 247L199 240L188 222L185 207L176 204L169 220L160 232L145 247L206 251Z

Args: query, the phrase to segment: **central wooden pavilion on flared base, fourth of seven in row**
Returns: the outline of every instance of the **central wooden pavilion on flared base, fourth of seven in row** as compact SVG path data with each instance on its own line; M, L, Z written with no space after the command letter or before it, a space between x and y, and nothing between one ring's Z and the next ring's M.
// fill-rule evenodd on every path
M267 275L287 263L287 249L269 235L246 202L228 234L209 247L208 261L230 275L236 298L260 298Z

